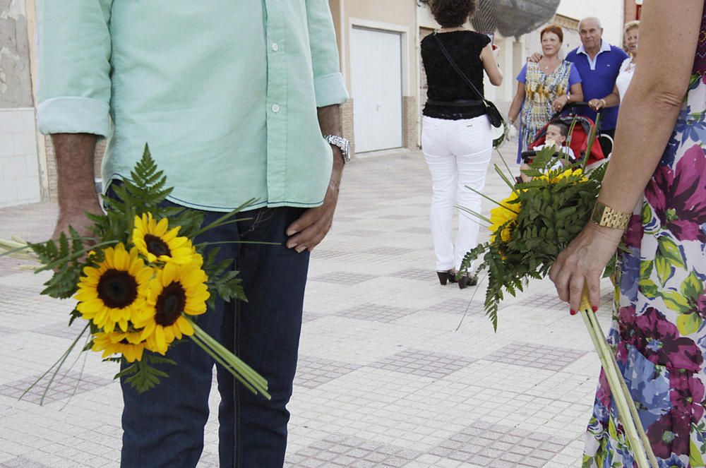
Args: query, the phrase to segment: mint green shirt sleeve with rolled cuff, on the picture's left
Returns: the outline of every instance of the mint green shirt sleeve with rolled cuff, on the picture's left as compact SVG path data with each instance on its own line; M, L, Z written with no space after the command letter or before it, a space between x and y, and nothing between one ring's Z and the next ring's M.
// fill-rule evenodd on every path
M108 135L112 1L37 2L42 133Z

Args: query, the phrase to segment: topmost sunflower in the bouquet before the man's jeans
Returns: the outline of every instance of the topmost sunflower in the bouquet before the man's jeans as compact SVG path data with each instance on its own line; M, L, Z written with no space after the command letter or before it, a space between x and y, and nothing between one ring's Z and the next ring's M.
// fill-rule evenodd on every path
M179 237L180 226L169 229L167 218L159 222L152 213L143 213L135 217L132 241L148 262L176 262L186 264L191 262L194 248L188 237Z

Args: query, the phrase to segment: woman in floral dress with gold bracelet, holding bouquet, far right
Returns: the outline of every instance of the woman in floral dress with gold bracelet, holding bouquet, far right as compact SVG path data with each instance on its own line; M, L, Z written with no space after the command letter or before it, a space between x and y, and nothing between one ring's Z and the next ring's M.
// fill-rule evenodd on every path
M705 0L645 0L635 77L621 105L599 202L633 212L609 342L659 467L706 466ZM634 208L634 210L633 210ZM623 232L590 222L549 276L578 310ZM595 310L595 308L594 308ZM584 468L633 467L603 373Z

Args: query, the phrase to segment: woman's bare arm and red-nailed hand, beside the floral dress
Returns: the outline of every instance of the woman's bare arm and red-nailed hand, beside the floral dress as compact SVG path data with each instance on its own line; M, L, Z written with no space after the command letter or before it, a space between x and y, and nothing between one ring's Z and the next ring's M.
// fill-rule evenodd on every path
M632 212L662 158L688 89L699 38L703 0L645 0L640 23L638 66L621 107L613 156L599 200ZM600 278L615 255L622 232L589 222L559 254L549 277L563 301L578 311L587 286L591 304L600 304Z

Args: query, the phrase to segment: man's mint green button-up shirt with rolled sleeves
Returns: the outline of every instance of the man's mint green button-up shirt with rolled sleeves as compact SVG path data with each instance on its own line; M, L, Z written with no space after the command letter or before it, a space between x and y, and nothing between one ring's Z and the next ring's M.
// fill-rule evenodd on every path
M348 97L328 0L40 0L37 17L40 131L107 137L104 181L149 143L180 205L323 202L316 108Z

